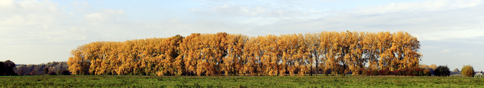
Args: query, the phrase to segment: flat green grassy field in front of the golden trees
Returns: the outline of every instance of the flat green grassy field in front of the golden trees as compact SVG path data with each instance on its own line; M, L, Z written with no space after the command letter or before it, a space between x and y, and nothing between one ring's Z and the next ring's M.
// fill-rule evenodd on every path
M6 88L483 88L479 77L3 76Z

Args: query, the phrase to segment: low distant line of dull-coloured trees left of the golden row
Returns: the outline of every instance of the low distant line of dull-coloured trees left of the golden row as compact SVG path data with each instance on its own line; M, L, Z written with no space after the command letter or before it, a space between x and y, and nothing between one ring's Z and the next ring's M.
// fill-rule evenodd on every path
M18 65L15 73L18 75L70 75L67 62L49 62L39 65Z

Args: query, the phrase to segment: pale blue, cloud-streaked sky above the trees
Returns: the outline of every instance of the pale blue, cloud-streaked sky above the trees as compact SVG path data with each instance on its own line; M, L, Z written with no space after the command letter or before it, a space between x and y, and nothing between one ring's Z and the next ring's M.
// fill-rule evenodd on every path
M95 41L405 31L420 64L484 70L484 0L0 0L0 61L67 61Z

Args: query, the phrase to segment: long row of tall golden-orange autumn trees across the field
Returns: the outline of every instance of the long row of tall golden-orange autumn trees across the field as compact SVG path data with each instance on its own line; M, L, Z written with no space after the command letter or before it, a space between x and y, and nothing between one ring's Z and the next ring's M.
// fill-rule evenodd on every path
M71 51L68 66L77 75L360 75L418 67L419 49L407 32L193 33L84 44Z

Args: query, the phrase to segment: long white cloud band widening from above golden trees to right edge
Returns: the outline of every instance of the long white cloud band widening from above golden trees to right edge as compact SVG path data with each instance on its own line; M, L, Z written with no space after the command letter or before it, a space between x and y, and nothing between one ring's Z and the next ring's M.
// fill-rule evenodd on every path
M481 3L481 0L430 0L360 7L367 9L331 11L335 14L320 19L281 20L262 26L259 30L285 33L322 30L406 31L420 41L474 38L484 35L484 5Z

